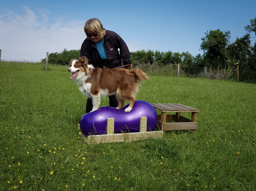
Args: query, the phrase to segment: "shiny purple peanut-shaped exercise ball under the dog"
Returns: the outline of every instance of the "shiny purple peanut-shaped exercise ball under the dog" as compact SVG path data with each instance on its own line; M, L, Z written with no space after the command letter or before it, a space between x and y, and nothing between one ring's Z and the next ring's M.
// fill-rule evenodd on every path
M157 126L157 112L148 102L136 100L130 112L110 106L101 107L86 113L80 120L80 128L85 136L107 134L107 118L114 118L114 133L134 133L140 130L140 117L147 117L147 131L154 131Z

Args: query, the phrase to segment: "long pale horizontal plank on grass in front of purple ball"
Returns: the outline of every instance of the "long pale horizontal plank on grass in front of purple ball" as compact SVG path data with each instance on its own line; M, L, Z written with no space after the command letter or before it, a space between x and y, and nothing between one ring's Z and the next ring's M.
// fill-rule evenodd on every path
M117 134L101 134L91 135L85 138L88 144L99 144L107 142L125 142L125 141L138 141L148 138L162 138L164 131L147 131L137 133L117 133Z

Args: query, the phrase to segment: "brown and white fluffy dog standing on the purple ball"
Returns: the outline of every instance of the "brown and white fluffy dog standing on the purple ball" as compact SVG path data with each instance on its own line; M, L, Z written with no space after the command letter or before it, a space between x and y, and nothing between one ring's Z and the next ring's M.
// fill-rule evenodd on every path
M117 109L124 106L124 100L128 100L129 107L124 111L130 112L139 90L138 85L149 79L139 68L134 70L94 68L88 64L86 57L71 60L68 71L72 73L70 78L79 85L81 93L92 98L92 111L99 108L101 96L116 95Z

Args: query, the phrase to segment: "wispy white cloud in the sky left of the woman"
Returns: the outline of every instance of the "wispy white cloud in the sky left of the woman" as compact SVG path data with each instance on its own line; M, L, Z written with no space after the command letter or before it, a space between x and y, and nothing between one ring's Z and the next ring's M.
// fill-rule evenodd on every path
M8 11L0 15L0 49L18 52L61 52L80 49L85 34L85 21L62 23L47 16L47 11L36 15L28 6L24 14Z

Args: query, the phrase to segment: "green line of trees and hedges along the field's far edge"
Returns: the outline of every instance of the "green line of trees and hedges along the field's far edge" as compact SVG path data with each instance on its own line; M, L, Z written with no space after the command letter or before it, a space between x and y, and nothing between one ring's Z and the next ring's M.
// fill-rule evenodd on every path
M137 50L130 53L133 65L147 64L153 60L155 64L164 66L168 64L178 64L183 68L210 67L231 68L236 63L239 64L241 81L256 82L256 17L250 20L250 24L244 27L246 34L230 42L230 31L220 31L220 29L205 32L201 38L200 50L203 54L193 56L189 52L160 52L159 50ZM80 50L66 50L58 53L50 53L49 63L68 64L71 59L79 58ZM43 59L42 62L45 62Z

